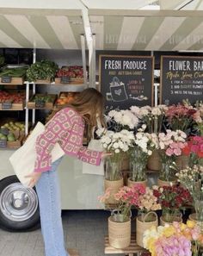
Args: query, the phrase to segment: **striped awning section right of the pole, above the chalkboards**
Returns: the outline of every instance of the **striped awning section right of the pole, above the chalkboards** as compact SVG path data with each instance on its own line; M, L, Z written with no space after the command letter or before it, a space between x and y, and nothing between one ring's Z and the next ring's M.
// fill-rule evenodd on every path
M89 9L99 50L203 50L203 11Z

